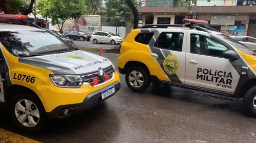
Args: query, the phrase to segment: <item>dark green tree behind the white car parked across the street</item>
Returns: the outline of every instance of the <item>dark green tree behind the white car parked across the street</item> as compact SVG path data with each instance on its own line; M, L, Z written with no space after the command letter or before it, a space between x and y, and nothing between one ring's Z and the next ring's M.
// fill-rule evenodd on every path
M126 21L131 20L130 16L132 15L132 10L123 0L106 0L105 7L102 7L101 12L106 14L106 21L114 22L116 27L120 23L125 24Z

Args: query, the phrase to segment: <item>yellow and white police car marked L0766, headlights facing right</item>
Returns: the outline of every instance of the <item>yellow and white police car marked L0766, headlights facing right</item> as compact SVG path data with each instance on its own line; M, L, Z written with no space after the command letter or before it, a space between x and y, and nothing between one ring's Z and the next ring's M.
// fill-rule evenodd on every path
M9 23L0 23L0 79L0 103L17 127L32 132L49 118L81 113L120 89L109 59L45 30Z

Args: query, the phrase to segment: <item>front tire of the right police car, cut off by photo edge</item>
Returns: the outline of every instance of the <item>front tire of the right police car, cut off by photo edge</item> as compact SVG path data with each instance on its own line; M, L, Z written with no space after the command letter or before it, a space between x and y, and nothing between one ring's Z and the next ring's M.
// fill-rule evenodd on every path
M256 101L253 100L255 97L256 97L256 86L253 86L246 91L243 98L246 111L249 113L249 115L252 115L254 117L256 116L256 109L253 106L253 102L254 102L254 105L256 105Z

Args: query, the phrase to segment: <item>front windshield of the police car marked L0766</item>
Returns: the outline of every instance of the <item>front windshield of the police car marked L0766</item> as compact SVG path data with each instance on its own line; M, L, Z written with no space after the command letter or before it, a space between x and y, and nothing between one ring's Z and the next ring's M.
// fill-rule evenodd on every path
M56 54L53 51L77 50L61 38L46 31L2 31L0 41L14 56Z

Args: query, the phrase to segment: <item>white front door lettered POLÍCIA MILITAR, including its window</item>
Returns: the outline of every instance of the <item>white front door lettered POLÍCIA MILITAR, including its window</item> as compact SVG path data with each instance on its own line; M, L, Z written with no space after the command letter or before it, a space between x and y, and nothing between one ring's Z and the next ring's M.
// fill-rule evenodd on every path
M242 63L223 57L226 46L206 32L189 30L186 44L185 84L201 89L233 93L237 87ZM240 61L240 60L239 60Z

